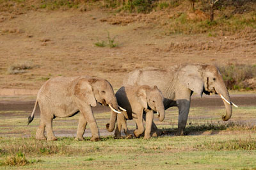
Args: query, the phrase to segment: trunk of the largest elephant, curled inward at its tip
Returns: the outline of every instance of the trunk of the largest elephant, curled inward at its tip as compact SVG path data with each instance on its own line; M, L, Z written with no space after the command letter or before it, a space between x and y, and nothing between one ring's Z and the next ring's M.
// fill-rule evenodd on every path
M221 88L215 88L216 89L216 92L221 96L222 95L222 100L223 100L223 103L225 105L225 108L226 108L226 115L223 115L222 116L222 120L223 121L227 121L231 118L231 115L232 115L232 105L230 104L231 100L230 100L230 96L229 96L229 93L228 93L228 90L223 82L223 86L221 86ZM224 99L225 98L225 99ZM229 102L229 104L228 104Z

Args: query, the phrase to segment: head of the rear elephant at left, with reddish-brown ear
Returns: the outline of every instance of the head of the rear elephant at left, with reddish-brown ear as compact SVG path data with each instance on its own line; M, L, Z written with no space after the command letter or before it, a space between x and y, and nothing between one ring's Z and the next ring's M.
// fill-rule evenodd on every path
M111 84L105 79L82 78L76 84L75 95L83 98L88 105L96 106L96 102L109 106L118 112L118 104Z

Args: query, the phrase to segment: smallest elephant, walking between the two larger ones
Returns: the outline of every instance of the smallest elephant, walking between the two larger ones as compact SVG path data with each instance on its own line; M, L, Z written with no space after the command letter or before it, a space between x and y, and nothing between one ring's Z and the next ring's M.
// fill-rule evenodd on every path
M138 129L134 130L135 137L140 137L145 130L144 139L148 139L150 138L154 111L157 112L160 121L164 120L164 98L157 86L154 86L154 88L147 85L123 86L116 92L116 99L122 114L117 116L115 137L121 136L122 127L125 135L130 137L131 134L127 132L126 120L133 119L138 126ZM143 113L146 113L146 129L143 125ZM115 120L110 120L110 124L108 123L106 127L109 132L112 132L115 128Z

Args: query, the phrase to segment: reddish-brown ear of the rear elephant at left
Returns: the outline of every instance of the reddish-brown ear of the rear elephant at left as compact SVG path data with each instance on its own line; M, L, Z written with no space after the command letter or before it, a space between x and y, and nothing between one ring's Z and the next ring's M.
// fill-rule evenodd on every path
M79 79L74 91L74 95L83 102L86 102L86 104L93 107L97 105L93 94L92 86L86 79Z

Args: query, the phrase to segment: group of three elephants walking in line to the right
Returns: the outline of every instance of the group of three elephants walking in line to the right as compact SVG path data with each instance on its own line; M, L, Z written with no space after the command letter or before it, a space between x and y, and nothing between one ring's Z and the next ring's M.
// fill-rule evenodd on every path
M52 120L56 117L67 118L80 112L76 140L83 140L87 123L92 132L91 141L99 141L99 128L93 116L92 107L97 102L111 108L111 118L106 128L115 137L121 137L124 129L127 137L132 137L127 129L127 120L136 122L133 135L144 139L161 135L154 121L154 112L159 121L164 120L165 110L177 106L179 121L177 135L183 135L188 120L191 95L195 92L202 97L218 94L226 108L223 121L230 119L232 105L229 93L221 77L221 73L213 65L178 65L166 69L142 68L134 70L124 78L122 86L116 94L106 79L89 76L55 77L46 81L38 91L35 107L28 124L33 121L36 105L40 106L40 125L36 130L36 139L54 141ZM146 127L144 128L143 119ZM117 124L117 125L115 125ZM45 128L47 137L45 137Z

